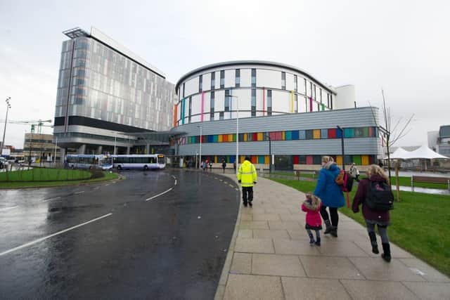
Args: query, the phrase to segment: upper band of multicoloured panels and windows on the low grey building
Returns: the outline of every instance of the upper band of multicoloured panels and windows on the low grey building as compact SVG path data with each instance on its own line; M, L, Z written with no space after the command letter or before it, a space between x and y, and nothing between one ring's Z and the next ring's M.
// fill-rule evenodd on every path
M376 127L358 127L344 129L344 138L375 138L376 136L378 136ZM239 133L240 142L269 141L269 138L271 141L293 141L341 137L342 131L340 131L339 129L307 129L292 131ZM201 141L202 143L236 142L236 133L203 135L201 136ZM200 136L184 136L179 138L179 143L181 145L200 143Z

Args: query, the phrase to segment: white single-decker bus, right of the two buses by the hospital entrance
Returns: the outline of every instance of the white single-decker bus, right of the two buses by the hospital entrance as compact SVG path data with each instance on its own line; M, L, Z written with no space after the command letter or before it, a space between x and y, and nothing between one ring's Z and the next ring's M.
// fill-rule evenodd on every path
M162 154L131 154L113 155L113 166L117 170L122 169L164 169L166 167L166 157Z

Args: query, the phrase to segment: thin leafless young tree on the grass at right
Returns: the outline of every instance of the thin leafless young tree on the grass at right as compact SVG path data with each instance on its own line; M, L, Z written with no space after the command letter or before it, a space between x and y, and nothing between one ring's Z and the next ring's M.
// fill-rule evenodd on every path
M381 126L377 122L377 118L375 117L375 113L372 110L373 115L373 121L377 125L378 129L381 131L381 139L383 143L386 145L387 150L387 171L389 172L389 182L392 186L392 178L391 178L391 159L390 159L390 148L399 141L400 138L403 138L406 136L406 134L411 131L411 129L407 129L409 124L411 124L411 120L414 117L414 114L409 117L409 119L404 123L403 126L401 126L401 120L403 117L400 117L398 121L395 123L395 125L392 127L392 115L390 107L386 106L386 98L385 98L385 92L383 89L381 90L381 94L383 96L383 107L381 107L382 113L383 113L383 125ZM369 103L370 105L370 103ZM372 105L371 105L372 106ZM398 165L396 166L396 174L397 174L397 201L399 201L399 180L398 180Z

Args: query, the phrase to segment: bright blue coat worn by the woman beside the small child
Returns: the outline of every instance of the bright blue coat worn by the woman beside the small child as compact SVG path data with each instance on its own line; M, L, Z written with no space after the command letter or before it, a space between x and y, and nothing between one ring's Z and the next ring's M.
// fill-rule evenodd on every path
M331 164L328 169L322 168L319 171L314 195L321 198L324 207L343 207L345 205L344 194L335 182L339 171L340 169L335 163Z

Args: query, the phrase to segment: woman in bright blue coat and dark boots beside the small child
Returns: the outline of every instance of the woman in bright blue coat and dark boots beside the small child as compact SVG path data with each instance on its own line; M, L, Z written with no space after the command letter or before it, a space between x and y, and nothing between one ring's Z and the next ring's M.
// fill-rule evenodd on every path
M338 223L339 215L338 208L345 205L344 195L340 186L335 182L336 177L340 172L333 157L322 157L322 169L319 171L319 178L317 179L316 190L314 195L319 197L322 201L321 216L325 221L326 229L324 234L330 233L333 237L338 237ZM330 216L328 216L328 207ZM330 221L331 217L331 221Z

